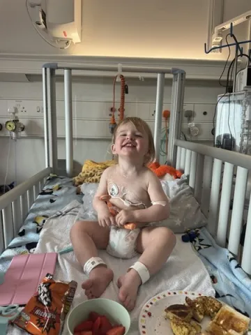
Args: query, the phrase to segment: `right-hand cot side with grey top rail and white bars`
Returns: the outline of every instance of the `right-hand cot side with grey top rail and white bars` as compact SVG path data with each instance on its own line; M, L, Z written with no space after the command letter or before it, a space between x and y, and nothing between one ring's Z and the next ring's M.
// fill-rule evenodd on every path
M250 205L243 249L240 246L251 157L181 140L176 140L174 144L178 147L176 169L183 170L188 176L195 198L201 204L201 211L208 218L209 232L220 246L228 248L238 258L244 271L251 275ZM237 171L235 183L234 170ZM233 189L234 203L230 214Z

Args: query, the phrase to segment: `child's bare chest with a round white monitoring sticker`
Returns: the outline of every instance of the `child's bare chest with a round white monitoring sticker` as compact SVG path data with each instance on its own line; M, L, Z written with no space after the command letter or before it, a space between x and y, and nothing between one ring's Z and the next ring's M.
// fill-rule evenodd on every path
M144 209L151 206L147 185L149 169L142 168L136 177L126 177L119 171L119 166L109 168L107 192L110 202L119 209ZM151 173L151 172L150 172Z

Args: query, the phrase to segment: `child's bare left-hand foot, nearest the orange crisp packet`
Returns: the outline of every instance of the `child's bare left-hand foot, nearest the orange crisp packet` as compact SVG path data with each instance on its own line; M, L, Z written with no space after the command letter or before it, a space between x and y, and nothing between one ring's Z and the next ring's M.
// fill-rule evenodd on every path
M82 289L85 290L86 297L88 299L100 297L112 281L113 276L113 271L103 265L99 265L91 270L89 279L82 283Z

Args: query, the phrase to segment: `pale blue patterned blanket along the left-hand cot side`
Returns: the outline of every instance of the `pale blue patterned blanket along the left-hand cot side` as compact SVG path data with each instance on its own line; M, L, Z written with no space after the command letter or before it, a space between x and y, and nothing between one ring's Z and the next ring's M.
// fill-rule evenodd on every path
M60 211L66 204L77 200L82 203L82 195L76 194L73 179L50 175L43 190L32 205L17 237L0 256L0 272L6 271L14 255L33 253L40 231L47 218ZM77 213L76 213L77 214Z

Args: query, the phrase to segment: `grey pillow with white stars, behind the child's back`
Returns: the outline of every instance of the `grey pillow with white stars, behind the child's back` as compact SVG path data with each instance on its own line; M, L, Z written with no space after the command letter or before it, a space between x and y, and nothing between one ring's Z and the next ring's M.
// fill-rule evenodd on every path
M206 225L206 218L201 213L199 203L192 193L192 189L188 185L185 174L181 179L172 181L161 181L162 188L169 198L170 216L164 221L155 222L156 226L166 226L174 233L183 233L187 229L201 228ZM96 211L92 206L93 196L96 193L98 184L86 183L82 184L81 191L84 194L84 205L79 211L77 219L81 220L97 220Z

